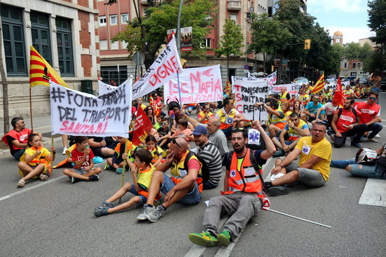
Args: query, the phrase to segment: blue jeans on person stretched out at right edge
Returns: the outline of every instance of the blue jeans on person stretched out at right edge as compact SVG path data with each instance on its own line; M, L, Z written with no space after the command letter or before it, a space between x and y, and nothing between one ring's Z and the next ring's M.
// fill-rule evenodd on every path
M348 160L331 160L330 164L331 167L341 169L345 169L348 165L351 165L350 174L352 174L352 176L362 176L372 179L386 179L386 174L382 174L382 169L378 167L378 165L359 165L355 162L355 158L350 158Z

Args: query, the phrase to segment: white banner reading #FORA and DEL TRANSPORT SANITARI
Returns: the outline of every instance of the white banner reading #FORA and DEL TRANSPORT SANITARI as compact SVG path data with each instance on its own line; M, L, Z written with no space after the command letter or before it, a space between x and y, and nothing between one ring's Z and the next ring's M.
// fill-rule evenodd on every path
M74 136L128 137L131 84L105 95L93 95L51 83L51 132Z

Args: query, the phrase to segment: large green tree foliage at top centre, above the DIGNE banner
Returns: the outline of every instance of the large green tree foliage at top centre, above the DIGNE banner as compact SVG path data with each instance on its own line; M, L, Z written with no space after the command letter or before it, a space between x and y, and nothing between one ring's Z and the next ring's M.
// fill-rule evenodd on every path
M133 18L125 30L113 37L112 41L124 41L128 52L142 51L145 55L145 67L154 62L157 52L166 43L166 30L177 28L179 0L149 0L145 16ZM138 8L138 6L137 6ZM204 57L206 49L200 48L213 27L217 10L215 0L185 0L182 7L180 27L192 27L193 51L185 55Z

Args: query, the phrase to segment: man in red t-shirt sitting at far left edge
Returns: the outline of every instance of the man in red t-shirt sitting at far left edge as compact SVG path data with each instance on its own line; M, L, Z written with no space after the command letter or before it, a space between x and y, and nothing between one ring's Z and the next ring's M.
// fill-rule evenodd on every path
M16 159L20 160L20 156L23 155L25 149L28 146L28 136L30 134L39 134L42 138L43 136L39 132L32 132L25 127L25 122L21 117L15 117L11 120L11 125L13 130L9 131L1 140L9 146L11 155Z

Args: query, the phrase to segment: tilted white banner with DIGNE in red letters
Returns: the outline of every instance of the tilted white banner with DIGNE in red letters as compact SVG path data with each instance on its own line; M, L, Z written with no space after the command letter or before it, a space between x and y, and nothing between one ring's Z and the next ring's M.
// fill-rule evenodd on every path
M168 83L177 76L177 73L182 73L182 65L173 36L173 39L159 54L152 66L134 83L133 99L147 95L161 85Z

